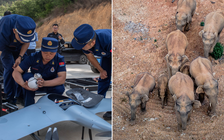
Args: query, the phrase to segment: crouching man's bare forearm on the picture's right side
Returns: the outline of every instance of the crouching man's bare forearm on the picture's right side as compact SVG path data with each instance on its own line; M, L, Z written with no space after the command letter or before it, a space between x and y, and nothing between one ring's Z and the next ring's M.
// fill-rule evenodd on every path
M58 86L65 83L66 80L66 71L58 72L58 77L52 80L46 80L43 83L43 86Z

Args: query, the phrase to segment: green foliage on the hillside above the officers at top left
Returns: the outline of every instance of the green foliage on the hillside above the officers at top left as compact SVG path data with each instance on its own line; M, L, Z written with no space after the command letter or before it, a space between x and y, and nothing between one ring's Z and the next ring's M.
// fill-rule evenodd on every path
M0 4L1 4L0 0ZM5 1L5 0L4 0ZM75 0L6 0L9 3L5 3L0 6L0 14L3 15L6 10L10 10L13 14L19 14L29 16L33 20L37 21L40 18L44 18L50 14L52 9L56 7L66 7L69 4L75 2ZM66 10L64 10L66 12Z

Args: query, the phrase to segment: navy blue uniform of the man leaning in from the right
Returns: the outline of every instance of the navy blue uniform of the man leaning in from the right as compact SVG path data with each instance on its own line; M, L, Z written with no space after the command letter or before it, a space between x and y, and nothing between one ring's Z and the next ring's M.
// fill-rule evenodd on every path
M96 32L96 44L93 48L88 51L84 51L84 53L89 54L92 53L96 56L101 57L100 66L107 72L107 78L101 79L98 81L98 94L106 96L106 92L110 87L111 81L111 30L110 29L99 29L95 30Z

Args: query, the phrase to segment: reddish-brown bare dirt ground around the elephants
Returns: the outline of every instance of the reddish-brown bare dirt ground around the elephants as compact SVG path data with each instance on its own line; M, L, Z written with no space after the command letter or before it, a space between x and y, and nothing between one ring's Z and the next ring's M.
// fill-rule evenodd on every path
M161 108L157 89L150 94L147 112L137 110L136 124L129 125L131 116L128 97L135 76L149 72L157 78L167 73L165 39L176 30L177 0L113 0L113 139L115 140L220 140L224 139L224 63L213 63L214 77L219 82L217 117L207 115L208 99L199 109L194 109L185 131L178 131L174 102ZM186 55L192 61L203 56L203 43L198 33L205 16L224 9L224 0L197 0L190 30L184 32L189 41ZM155 43L154 40L157 40ZM220 40L224 44L224 31Z

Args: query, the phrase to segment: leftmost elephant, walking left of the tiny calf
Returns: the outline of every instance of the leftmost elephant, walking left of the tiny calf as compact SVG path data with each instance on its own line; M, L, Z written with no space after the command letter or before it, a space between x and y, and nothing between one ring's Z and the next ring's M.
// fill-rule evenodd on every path
M141 111L146 111L146 102L149 100L149 92L155 88L155 79L147 72L136 76L133 86L133 92L127 93L131 107L131 125L135 124L136 109L141 105Z

